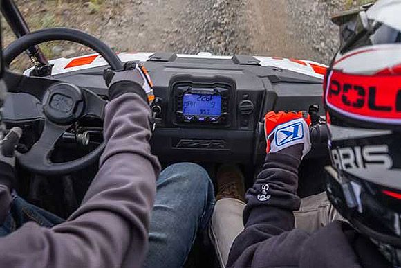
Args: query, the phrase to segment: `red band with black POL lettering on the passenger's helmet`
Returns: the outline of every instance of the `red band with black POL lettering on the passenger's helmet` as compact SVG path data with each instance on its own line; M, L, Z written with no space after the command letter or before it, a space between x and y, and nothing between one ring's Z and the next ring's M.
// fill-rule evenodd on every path
M399 75L349 75L332 71L326 104L341 114L377 123L401 123Z

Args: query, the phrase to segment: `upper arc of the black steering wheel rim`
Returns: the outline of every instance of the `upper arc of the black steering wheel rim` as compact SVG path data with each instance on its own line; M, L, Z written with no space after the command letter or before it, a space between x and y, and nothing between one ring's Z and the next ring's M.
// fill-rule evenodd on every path
M114 71L122 70L120 58L115 55L115 52L109 48L109 46L93 35L89 35L82 30L71 28L46 28L19 37L4 49L4 64L9 67L11 62L15 60L19 54L23 53L31 46L50 41L71 41L88 46L92 48L93 51L99 53L104 60L109 63L111 69Z

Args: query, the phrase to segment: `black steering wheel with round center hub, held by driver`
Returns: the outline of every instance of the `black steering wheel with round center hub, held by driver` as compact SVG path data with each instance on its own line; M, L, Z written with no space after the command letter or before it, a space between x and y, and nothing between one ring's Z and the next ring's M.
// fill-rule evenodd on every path
M31 46L49 41L71 41L83 44L99 53L111 69L122 70L122 62L102 41L80 30L47 28L24 35L12 42L4 51L4 62L12 60ZM51 152L57 140L83 116L104 118L106 101L88 89L53 78L28 77L6 71L4 75L8 91L28 93L41 100L44 129L38 141L24 154L17 153L17 160L24 168L42 175L65 175L95 163L104 150L105 141L86 156L64 163L53 163Z

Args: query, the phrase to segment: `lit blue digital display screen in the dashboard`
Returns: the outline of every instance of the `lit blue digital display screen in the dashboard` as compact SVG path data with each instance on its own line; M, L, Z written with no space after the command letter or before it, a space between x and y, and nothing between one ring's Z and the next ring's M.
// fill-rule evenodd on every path
M221 96L211 94L184 94L185 116L221 116Z

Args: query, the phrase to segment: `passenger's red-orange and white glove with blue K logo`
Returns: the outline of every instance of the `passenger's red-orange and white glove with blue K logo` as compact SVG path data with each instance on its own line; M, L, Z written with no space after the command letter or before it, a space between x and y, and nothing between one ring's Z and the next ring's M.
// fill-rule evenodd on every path
M269 111L265 115L266 152L279 152L296 144L301 148L301 159L310 151L310 116L305 111L288 113Z

